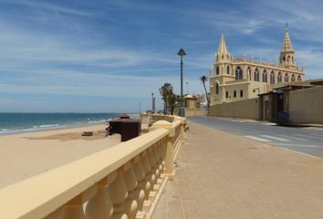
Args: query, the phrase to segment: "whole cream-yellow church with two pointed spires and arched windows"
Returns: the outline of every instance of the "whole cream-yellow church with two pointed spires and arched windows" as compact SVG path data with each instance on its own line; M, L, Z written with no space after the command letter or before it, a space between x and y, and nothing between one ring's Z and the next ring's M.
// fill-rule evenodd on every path
M256 98L283 83L304 79L304 68L298 68L295 51L285 31L279 64L233 58L221 36L214 67L210 68L211 105Z

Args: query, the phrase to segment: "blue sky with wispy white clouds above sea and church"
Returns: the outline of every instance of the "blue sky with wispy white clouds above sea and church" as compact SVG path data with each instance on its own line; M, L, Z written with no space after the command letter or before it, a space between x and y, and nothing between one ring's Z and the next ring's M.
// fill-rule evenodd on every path
M220 36L277 62L285 26L306 78L323 78L322 1L0 0L0 111L138 112L171 83L203 93Z

